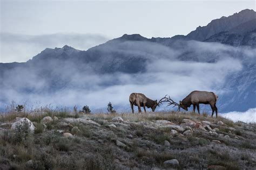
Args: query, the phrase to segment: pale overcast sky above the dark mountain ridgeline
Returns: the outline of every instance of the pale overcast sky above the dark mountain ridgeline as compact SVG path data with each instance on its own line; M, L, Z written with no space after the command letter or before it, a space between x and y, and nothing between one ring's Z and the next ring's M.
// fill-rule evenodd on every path
M87 49L125 33L139 33L147 38L187 34L212 19L244 9L255 11L255 1L0 1L0 62L26 61L45 47L65 44ZM8 42L6 33L12 37L7 37ZM84 34L85 38L89 35L91 39L87 41L92 43L79 46L74 42L76 38L69 41L61 38L62 41L46 46L24 37L32 35L40 39L56 33ZM93 36L102 39L94 40ZM33 50L24 52L22 48Z

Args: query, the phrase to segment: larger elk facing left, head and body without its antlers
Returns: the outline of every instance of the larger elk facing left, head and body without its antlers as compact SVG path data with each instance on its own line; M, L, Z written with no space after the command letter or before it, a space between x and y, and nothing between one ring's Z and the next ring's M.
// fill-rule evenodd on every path
M193 111L198 110L198 114L200 114L199 111L199 104L210 104L212 108L212 116L214 114L214 111L216 112L216 117L218 117L218 109L216 107L218 96L209 91L192 91L187 97L185 97L182 101L179 101L179 105L181 108L187 110L193 104Z

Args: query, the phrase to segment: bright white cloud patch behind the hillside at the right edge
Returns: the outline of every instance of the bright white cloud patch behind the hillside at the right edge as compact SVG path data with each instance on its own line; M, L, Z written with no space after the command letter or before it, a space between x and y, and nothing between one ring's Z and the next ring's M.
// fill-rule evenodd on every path
M231 119L234 122L242 121L246 123L256 122L256 108L249 109L245 112L231 111L225 114L220 114L223 117Z

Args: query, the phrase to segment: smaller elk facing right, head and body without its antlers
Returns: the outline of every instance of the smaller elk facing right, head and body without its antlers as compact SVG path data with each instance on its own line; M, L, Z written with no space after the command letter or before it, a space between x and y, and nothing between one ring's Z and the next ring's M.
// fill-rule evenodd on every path
M140 107L143 107L144 111L146 112L146 107L151 108L152 111L154 111L156 109L156 107L158 106L157 100L155 100L155 101L151 100L150 98L147 98L142 93L132 93L129 97L129 101L131 104L132 113L134 112L133 105L138 106L139 112L142 112Z

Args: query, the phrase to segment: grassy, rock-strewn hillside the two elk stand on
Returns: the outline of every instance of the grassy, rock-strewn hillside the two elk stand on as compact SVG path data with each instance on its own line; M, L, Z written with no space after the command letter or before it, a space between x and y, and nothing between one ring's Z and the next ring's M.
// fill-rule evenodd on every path
M31 121L31 122L30 122ZM184 112L10 112L0 169L255 169L255 124Z

